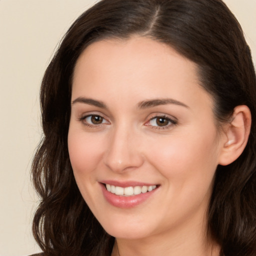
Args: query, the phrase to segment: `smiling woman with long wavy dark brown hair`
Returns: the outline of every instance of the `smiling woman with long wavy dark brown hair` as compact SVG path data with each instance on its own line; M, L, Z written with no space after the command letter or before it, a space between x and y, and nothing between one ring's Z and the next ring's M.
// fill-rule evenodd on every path
M221 0L102 0L41 85L44 255L256 255L256 78Z

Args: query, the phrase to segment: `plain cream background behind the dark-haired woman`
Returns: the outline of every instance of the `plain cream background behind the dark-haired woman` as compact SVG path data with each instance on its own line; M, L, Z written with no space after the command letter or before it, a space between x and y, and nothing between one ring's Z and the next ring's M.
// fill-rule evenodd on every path
M41 136L39 85L58 41L96 0L0 0L0 256L38 252L30 163ZM256 1L225 0L256 60ZM254 62L255 63L255 62Z

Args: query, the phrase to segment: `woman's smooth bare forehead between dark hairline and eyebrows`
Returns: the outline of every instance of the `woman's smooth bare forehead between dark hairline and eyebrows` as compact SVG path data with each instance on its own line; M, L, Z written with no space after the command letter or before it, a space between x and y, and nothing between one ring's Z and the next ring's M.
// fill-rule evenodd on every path
M168 96L188 103L202 94L209 98L198 80L197 65L162 42L140 36L101 40L79 56L72 98L130 96L140 101Z

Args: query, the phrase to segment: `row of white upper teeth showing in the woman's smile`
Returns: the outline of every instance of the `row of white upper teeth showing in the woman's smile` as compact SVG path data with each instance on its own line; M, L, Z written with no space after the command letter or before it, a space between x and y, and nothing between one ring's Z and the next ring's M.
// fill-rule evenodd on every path
M120 186L114 186L105 184L107 191L116 194L116 195L136 195L140 193L146 193L147 191L150 192L153 189L156 188L156 185L151 186L127 186L127 187L120 187Z

